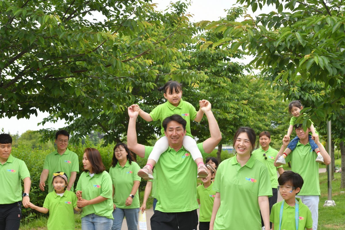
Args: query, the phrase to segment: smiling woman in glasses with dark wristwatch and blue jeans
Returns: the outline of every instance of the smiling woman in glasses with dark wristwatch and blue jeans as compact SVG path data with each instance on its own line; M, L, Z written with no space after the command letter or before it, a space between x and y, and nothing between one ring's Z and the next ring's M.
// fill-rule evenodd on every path
M130 150L124 143L114 147L112 166L109 174L112 180L114 222L111 230L120 230L126 217L128 230L136 230L139 214L138 188L141 178L138 176L140 166L134 162Z

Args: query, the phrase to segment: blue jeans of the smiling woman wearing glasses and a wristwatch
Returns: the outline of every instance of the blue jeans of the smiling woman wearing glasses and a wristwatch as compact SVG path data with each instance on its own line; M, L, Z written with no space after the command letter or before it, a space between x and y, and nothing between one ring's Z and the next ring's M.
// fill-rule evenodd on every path
M138 229L138 215L139 215L139 208L114 209L114 211L112 212L114 221L112 222L111 230L120 230L122 227L122 221L124 221L124 217L126 217L128 230L137 230Z

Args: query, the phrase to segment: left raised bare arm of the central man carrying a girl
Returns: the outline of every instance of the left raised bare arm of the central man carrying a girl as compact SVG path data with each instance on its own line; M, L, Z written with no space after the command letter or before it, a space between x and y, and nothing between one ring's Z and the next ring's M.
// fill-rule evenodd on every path
M139 110L135 110L137 110L135 104L132 104L130 107L128 107L129 122L127 130L127 147L130 151L134 152L139 157L144 158L145 146L142 144L138 144L137 141L136 123L139 115Z

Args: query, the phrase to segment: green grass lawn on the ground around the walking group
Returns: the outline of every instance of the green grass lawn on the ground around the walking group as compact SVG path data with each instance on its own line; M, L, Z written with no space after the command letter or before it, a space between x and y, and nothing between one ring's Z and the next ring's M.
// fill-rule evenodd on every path
M345 189L340 189L341 174L334 173L332 181L332 199L335 201L335 207L323 207L327 198L327 173L320 173L321 197L319 203L319 224L318 230L343 230L345 229ZM140 203L144 191L140 192ZM152 207L153 198L147 201L147 209ZM80 214L75 214L76 229L81 230ZM47 230L47 218L39 218L26 224L21 224L20 230Z

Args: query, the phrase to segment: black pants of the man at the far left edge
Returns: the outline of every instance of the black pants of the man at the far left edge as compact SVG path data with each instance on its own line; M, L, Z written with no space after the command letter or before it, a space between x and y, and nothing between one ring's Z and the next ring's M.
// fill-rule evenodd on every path
M21 219L21 201L12 204L0 204L0 229L18 230Z

